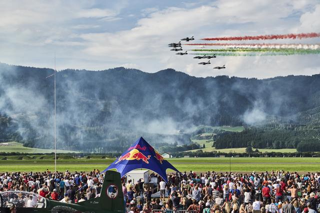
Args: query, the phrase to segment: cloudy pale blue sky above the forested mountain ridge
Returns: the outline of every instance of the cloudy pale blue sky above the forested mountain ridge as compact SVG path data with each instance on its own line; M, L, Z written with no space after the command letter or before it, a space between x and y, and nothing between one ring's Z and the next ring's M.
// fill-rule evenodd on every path
M269 78L320 73L320 56L218 56L208 66L168 43L194 36L320 32L319 0L1 0L0 62L56 69ZM319 38L276 40L320 43ZM190 48L182 46L183 48ZM225 64L226 69L213 66Z

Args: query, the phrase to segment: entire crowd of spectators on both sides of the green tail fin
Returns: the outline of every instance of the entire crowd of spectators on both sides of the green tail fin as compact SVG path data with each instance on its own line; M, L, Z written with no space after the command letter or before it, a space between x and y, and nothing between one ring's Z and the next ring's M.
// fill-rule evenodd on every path
M122 178L126 211L129 213L318 213L320 173L271 171L264 173L168 174L165 183L156 174L159 195L143 179L132 183ZM0 192L26 191L44 198L78 203L99 196L103 174L90 173L2 173ZM155 196L154 196L155 195ZM156 198L157 197L157 198ZM32 200L32 199L30 199ZM32 207L26 200L23 204Z

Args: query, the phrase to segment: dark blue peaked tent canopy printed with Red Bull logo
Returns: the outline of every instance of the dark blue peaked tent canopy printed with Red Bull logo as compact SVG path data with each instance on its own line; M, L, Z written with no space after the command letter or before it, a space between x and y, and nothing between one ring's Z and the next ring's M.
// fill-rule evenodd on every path
M121 177L135 169L147 169L157 173L166 183L168 182L165 172L167 169L179 172L142 137L123 152L102 173L110 169L116 169L121 174Z

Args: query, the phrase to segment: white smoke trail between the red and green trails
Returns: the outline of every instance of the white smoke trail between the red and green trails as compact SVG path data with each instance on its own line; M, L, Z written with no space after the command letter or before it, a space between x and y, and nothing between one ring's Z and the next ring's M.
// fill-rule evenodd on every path
M228 46L231 48L292 48L292 49L319 49L320 44L278 44L278 43L190 43L184 45Z

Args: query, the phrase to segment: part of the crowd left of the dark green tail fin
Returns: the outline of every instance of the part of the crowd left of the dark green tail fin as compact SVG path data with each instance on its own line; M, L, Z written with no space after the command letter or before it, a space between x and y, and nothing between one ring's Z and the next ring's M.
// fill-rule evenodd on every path
M89 173L74 172L68 170L65 173L51 173L49 170L43 173L2 173L0 174L0 192L26 191L37 194L43 198L64 203L78 203L98 197L103 183L103 174L99 170ZM33 206L36 202L33 202ZM33 207L31 203L24 207Z

